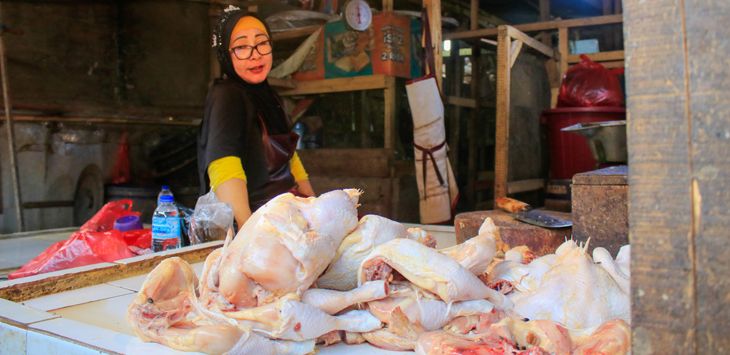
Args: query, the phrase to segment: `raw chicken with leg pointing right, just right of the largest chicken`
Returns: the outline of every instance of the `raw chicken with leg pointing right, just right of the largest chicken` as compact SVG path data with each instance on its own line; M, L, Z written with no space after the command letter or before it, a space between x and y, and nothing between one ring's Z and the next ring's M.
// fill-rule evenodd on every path
M388 280L393 270L447 303L488 299L498 308L510 306L502 294L454 259L410 239L393 239L376 247L360 265L358 282Z

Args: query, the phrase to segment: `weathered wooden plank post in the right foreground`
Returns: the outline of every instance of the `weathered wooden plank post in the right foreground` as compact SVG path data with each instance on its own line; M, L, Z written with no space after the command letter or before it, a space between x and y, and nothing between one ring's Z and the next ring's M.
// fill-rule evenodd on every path
M730 352L730 2L624 2L634 354Z

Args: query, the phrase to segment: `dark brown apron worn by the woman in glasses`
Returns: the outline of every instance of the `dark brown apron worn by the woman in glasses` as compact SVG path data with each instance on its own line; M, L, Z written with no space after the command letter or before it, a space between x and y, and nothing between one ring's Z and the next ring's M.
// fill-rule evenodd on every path
M296 190L289 161L297 149L299 135L294 132L269 135L261 115L258 118L261 124L261 140L269 181L254 191L249 191L249 204L252 212L277 195Z

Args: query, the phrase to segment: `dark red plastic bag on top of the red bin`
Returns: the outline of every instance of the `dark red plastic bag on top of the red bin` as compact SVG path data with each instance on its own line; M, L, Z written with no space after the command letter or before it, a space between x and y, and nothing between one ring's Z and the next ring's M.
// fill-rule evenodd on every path
M623 106L616 74L586 55L581 54L580 59L563 77L557 107Z

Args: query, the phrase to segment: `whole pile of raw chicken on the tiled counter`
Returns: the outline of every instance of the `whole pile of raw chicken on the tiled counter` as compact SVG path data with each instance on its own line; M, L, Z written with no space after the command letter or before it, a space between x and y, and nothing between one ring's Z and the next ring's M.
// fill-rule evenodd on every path
M425 231L375 215L360 191L284 194L212 252L200 280L161 262L129 306L145 341L210 354L307 354L337 342L418 354L624 354L629 250L568 240L535 257L490 219L435 249Z

